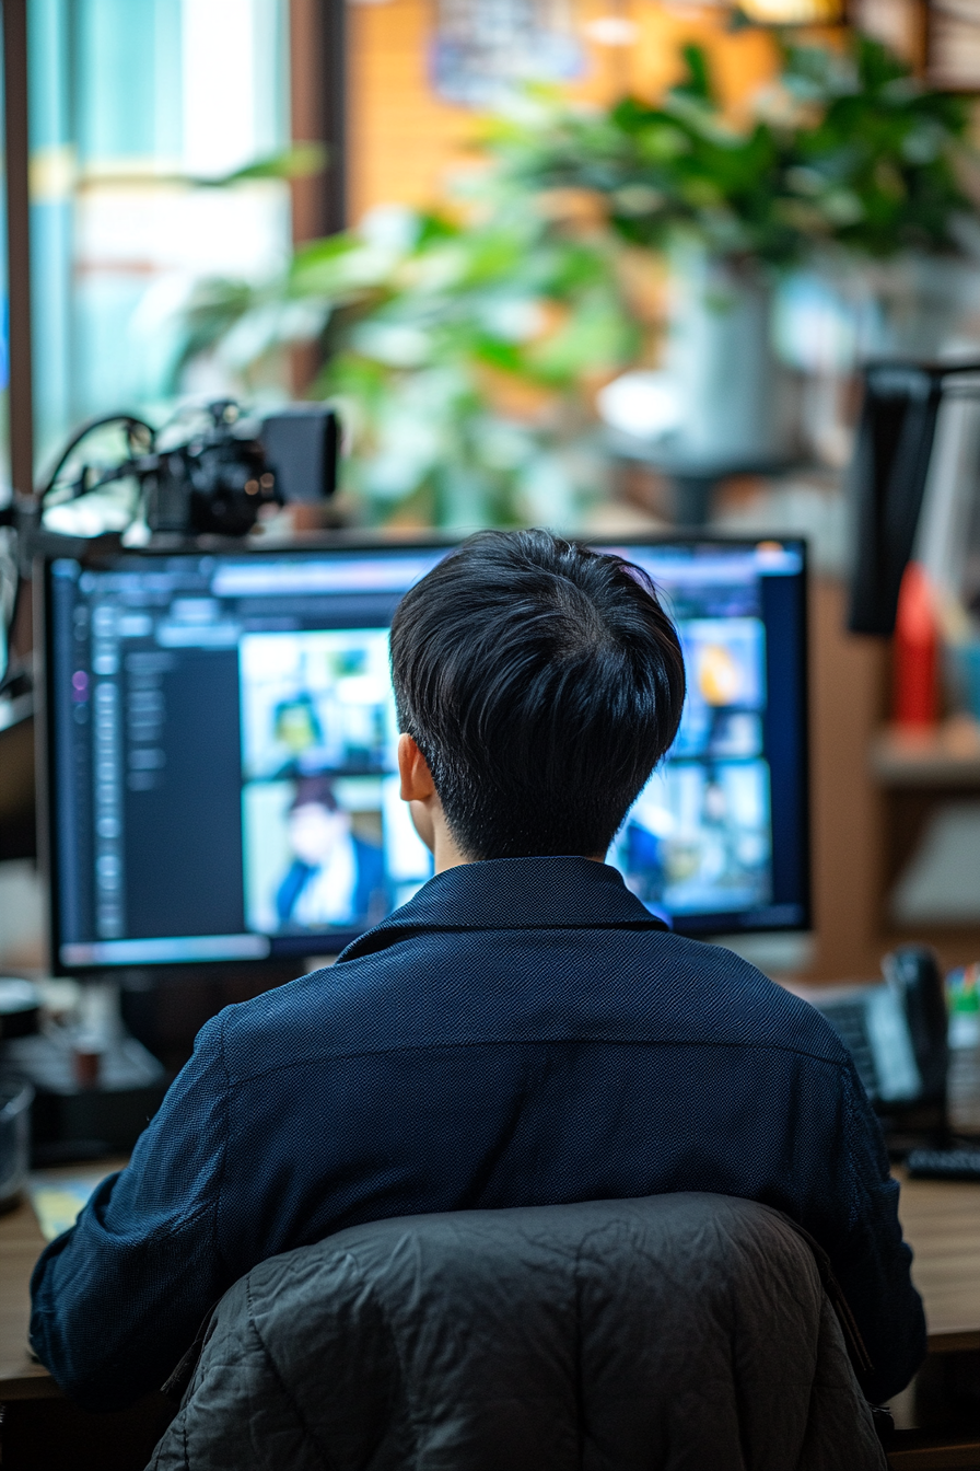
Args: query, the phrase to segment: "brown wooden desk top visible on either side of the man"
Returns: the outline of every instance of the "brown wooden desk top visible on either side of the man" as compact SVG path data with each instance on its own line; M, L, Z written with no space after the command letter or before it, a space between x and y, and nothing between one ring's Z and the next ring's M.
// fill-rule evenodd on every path
M930 1352L980 1349L980 1186L904 1180L901 1217L915 1252ZM28 1284L43 1244L26 1202L0 1217L0 1400L59 1393L26 1347Z

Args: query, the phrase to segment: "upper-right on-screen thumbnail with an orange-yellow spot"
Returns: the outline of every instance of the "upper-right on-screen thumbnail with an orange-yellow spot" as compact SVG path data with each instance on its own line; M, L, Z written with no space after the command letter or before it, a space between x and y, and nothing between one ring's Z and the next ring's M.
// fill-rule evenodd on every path
M758 756L765 706L765 628L758 618L680 624L688 699L674 756Z

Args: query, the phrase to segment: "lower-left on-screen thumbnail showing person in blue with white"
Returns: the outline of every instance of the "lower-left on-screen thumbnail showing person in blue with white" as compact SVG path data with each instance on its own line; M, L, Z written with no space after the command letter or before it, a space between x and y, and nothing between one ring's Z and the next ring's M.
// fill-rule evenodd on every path
M394 775L248 783L242 837L245 922L260 934L366 928L432 875Z

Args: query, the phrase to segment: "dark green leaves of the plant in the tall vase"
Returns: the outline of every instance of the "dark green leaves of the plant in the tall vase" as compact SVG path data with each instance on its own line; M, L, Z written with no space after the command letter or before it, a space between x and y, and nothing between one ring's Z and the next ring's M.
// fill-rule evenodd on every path
M623 238L654 249L686 234L713 256L779 266L830 244L961 249L964 99L921 88L858 34L842 50L788 41L777 79L736 127L705 53L683 54L688 75L660 107L627 99L594 116L555 107L492 125L502 175L532 191L592 190Z

